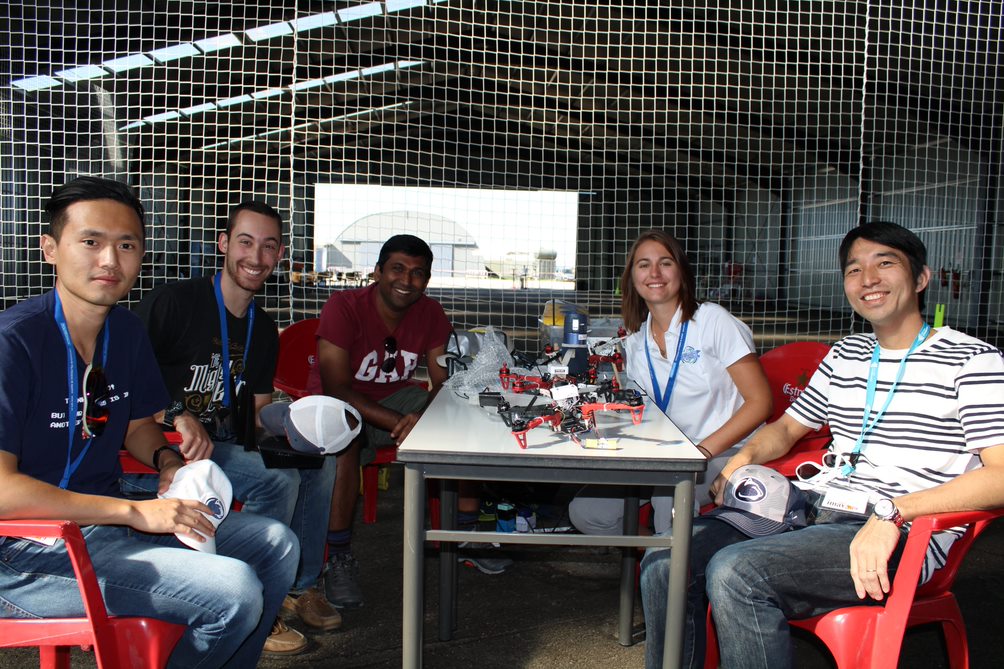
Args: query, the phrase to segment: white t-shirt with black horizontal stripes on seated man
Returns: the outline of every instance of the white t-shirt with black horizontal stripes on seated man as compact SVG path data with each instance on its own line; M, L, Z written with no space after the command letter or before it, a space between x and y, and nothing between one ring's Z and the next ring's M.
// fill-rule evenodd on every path
M837 453L850 453L861 432L875 346L873 334L837 342L787 410L813 429L828 423L830 449ZM906 355L906 350L881 352L872 417L885 405ZM1004 358L989 344L942 327L910 356L889 408L864 439L854 472L814 489L864 490L872 502L925 490L981 466L980 450L999 444L1004 444ZM928 550L924 580L945 564L957 536L940 534Z

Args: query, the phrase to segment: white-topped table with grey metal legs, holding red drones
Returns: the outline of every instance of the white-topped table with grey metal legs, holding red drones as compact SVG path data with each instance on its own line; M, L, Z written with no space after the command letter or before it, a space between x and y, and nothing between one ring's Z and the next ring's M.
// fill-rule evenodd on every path
M423 558L427 540L440 541L440 637L449 639L455 615L456 544L462 541L609 545L622 551L620 643L632 643L637 547L674 546L671 559L664 667L678 667L683 649L687 570L694 512L694 483L707 461L654 404L635 425L626 412L596 414L598 435L616 450L586 449L568 435L536 428L521 449L495 410L443 389L398 449L405 464L404 629L402 666L422 666ZM595 437L593 434L581 438ZM427 530L426 479L444 479L442 529ZM534 481L675 486L672 536L638 535L637 492L624 501L621 536L561 533L470 532L456 529L456 481Z

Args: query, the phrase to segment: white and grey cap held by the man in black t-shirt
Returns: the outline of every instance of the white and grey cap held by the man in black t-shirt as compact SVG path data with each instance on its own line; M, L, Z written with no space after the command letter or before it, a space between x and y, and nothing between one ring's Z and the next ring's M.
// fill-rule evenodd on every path
M285 434L293 449L315 455L340 453L362 429L359 412L327 395L310 395L291 404L267 404L258 417L271 434ZM349 417L355 420L355 427Z

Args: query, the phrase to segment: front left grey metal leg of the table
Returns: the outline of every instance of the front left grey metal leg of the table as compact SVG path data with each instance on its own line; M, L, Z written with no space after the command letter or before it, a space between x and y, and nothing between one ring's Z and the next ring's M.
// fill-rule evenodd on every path
M405 466L405 554L402 604L402 667L422 667L423 569L426 481L414 465Z

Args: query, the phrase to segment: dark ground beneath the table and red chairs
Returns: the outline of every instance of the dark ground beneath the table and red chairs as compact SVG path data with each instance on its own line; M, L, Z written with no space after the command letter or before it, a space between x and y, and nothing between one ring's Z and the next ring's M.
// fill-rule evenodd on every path
M361 563L365 606L345 612L336 632L312 635L307 652L263 658L259 667L387 668L401 666L402 469L392 466L391 489L382 492L379 521L356 525L353 549ZM644 666L644 644L616 641L618 554L612 549L521 546L515 566L499 576L460 572L459 620L453 640L438 641L437 558L426 567L425 666L431 669L608 669ZM969 627L971 666L1004 666L1004 522L976 543L956 585ZM636 610L642 635L641 605ZM294 624L294 626L298 627ZM302 628L300 628L302 629ZM825 651L795 639L795 665L831 666ZM0 651L0 668L37 666L34 650ZM92 667L92 656L74 652L74 667ZM908 633L901 667L947 667L936 629Z

